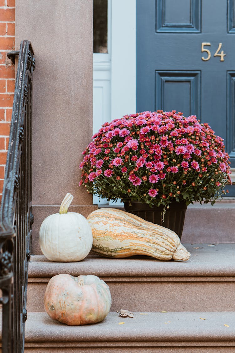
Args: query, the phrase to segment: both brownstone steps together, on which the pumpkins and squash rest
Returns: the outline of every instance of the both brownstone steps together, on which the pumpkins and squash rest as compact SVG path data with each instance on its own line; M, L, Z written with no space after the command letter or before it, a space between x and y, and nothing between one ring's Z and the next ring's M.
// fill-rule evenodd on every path
M92 252L75 263L31 256L25 352L235 352L235 244L185 246L187 262ZM70 327L44 312L47 283L60 273L93 274L109 285L112 306L103 322ZM135 318L119 317L120 309Z

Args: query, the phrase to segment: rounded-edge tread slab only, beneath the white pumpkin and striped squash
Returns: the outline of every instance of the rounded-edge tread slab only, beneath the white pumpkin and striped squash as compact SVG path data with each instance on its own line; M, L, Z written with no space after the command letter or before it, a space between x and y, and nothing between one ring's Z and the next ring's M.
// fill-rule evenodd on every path
M235 244L183 244L191 253L188 261L160 261L148 256L125 259L104 258L94 253L80 262L56 263L43 255L32 255L29 277L52 277L69 271L72 275L99 276L235 276ZM67 273L66 272L66 273Z

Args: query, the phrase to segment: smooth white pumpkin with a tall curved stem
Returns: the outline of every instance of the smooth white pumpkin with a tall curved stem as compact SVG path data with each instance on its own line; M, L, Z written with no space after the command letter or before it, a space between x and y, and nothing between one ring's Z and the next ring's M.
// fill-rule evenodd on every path
M92 247L92 230L84 216L67 212L73 196L64 197L60 213L48 216L39 231L39 244L51 261L75 262L84 259Z

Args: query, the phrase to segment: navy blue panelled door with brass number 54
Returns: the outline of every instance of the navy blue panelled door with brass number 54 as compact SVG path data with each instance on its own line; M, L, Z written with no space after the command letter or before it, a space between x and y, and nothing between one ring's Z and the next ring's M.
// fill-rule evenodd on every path
M232 167L234 2L137 0L137 111L174 109L208 122L225 139Z

